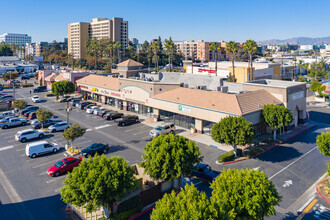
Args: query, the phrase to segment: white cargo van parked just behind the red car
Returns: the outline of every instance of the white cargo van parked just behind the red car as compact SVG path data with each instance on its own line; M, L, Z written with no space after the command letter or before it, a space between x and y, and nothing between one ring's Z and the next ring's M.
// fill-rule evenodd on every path
M55 153L60 149L58 144L49 143L48 141L38 141L27 144L25 147L25 154L28 157L36 158L42 154Z

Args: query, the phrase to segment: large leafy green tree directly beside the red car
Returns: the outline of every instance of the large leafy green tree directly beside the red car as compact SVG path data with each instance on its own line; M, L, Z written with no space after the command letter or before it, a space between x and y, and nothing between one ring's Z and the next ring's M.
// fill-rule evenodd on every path
M105 155L83 160L64 180L60 190L65 203L84 206L87 212L111 207L134 187L134 170L122 157Z

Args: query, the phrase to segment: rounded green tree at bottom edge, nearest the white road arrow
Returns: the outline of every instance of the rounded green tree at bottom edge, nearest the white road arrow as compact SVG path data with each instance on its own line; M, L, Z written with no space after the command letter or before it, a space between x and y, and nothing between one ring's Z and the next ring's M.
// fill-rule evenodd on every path
M264 219L275 215L282 197L260 170L223 170L211 184L211 203L229 219Z

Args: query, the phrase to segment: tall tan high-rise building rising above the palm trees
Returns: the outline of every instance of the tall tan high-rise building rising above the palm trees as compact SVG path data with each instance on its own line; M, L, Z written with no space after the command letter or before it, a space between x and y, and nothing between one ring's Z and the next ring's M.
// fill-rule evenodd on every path
M77 22L68 25L68 53L75 59L86 56L85 42L88 38L108 38L120 42L122 54L128 46L128 22L122 18L94 18L91 23Z

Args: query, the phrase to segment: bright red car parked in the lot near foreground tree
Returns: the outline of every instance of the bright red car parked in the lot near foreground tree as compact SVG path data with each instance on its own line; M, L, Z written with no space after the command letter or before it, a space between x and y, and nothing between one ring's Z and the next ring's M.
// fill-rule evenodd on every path
M62 173L73 170L76 166L80 164L82 158L67 157L63 160L58 161L56 164L48 168L47 174L49 176L59 176Z

